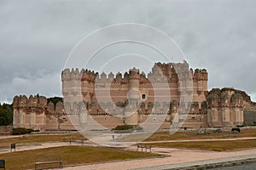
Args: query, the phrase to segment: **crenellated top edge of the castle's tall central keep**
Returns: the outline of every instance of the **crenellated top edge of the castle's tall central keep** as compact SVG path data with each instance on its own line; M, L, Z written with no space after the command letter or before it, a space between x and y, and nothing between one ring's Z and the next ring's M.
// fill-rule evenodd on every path
M160 77L161 76L161 77ZM194 82L197 81L207 81L208 73L206 69L189 69L189 64L184 60L183 63L154 63L152 71L148 72L148 75L144 72L140 72L138 69L133 67L128 72L126 71L123 75L118 72L116 75L113 75L113 72L110 72L108 75L105 72L98 74L98 72L84 70L79 71L78 68L65 69L61 72L61 81L69 82L72 80L80 82L129 82L131 79L138 79L140 82L149 82L148 78L154 82L161 82L165 76L166 81L168 82L177 82L179 80L184 80L185 78L192 79Z

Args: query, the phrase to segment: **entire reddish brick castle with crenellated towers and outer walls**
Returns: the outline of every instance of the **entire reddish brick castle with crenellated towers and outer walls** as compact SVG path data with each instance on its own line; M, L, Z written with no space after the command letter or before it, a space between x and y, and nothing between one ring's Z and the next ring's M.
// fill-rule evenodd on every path
M14 126L72 130L94 120L113 128L153 125L162 116L160 128L179 122L183 127L234 127L243 124L244 110L256 109L242 91L213 88L208 92L207 70L194 71L186 61L155 63L147 76L136 68L124 75L111 72L108 77L104 72L65 69L61 81L63 103L48 103L43 96L15 96Z

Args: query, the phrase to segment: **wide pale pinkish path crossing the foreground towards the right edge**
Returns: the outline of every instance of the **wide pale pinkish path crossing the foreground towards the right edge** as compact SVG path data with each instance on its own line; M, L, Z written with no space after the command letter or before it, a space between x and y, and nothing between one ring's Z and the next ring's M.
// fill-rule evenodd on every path
M129 150L137 150L136 147L131 147ZM169 165L183 163L189 161L203 161L217 158L226 158L232 156L248 156L256 155L256 148L249 150L236 151L206 151L206 150L180 150L170 148L153 148L152 152L169 155L163 158L139 159L131 161L114 161L108 163L90 164L79 167L65 167L65 170L119 170L133 169L138 167L154 167L160 165Z

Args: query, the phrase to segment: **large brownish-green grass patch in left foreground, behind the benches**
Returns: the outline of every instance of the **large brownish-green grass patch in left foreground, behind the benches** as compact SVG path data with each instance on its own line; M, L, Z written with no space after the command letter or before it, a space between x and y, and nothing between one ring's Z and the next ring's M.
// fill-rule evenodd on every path
M63 165L77 165L101 161L117 161L134 158L159 156L145 152L132 152L113 148L88 146L62 146L41 150L26 150L1 154L6 161L6 169L34 168L35 161L63 161Z

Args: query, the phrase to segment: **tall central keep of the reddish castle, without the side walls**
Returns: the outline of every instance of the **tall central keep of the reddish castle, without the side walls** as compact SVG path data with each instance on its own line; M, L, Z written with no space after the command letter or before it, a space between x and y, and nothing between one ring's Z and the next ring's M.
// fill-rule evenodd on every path
M178 109L177 122L185 121L186 127L200 127L207 118L202 115L207 112L208 73L205 69L193 71L186 61L155 63L147 76L136 68L124 75L117 73L115 77L113 73L107 77L104 72L98 75L94 71L66 69L62 71L61 80L67 113L79 112L83 107L78 105L84 105L90 116L118 115L125 117L121 124L131 125L148 120L150 115L166 114L163 128L170 127ZM108 122L112 122L109 119L111 117Z

